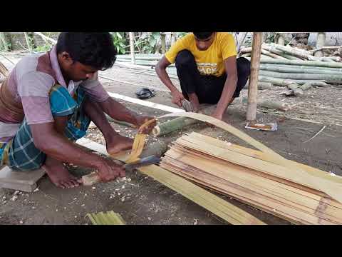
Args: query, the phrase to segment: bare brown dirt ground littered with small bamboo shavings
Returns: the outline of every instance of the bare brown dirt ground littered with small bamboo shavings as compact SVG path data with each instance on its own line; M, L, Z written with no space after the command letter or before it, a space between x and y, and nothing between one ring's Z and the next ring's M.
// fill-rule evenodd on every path
M0 59L0 61L3 60ZM6 61L4 64L6 65ZM9 68L11 68L10 64ZM103 71L101 74L120 81L165 90L156 76L134 74L116 67ZM134 92L139 88L122 82L100 80L108 91L125 96L135 97ZM177 80L173 81L178 85ZM227 110L224 120L285 158L342 176L340 149L342 127L338 126L342 124L341 89L342 87L339 86L311 89L303 97L280 96L281 89L259 91L259 99L284 101L293 106L293 109L287 112L258 109L258 120L276 122L278 131L244 129L247 109L245 104L233 103ZM242 96L247 96L247 90L242 91ZM166 91L157 91L156 96L148 101L173 106L170 95ZM120 102L139 114L150 116L166 114L157 109L121 100ZM326 128L318 136L304 143L314 136L323 125L326 125ZM135 129L113 123L112 126L123 135L132 138L135 136ZM183 133L191 131L246 146L232 134L221 129L209 128L205 124L190 126L161 138L149 136L148 143L157 140L168 143ZM89 129L86 137L104 144L103 136L96 128ZM77 176L91 171L88 168L73 165L70 165L69 169ZM93 187L81 186L69 189L56 188L44 176L38 181L38 191L34 193L19 192L17 193L18 198L12 201L11 198L13 199L14 194L12 190L0 188L0 224L89 224L90 221L86 217L86 213L111 210L120 213L128 224L227 224L204 208L139 172L128 174L125 181L112 181L98 183ZM234 201L227 196L220 197L268 224L289 224L287 221Z

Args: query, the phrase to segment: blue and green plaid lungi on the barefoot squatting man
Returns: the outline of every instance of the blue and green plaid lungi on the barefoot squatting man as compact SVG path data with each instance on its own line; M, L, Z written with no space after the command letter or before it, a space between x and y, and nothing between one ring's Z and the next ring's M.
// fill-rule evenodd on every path
M51 88L49 96L52 115L68 116L65 136L71 141L85 136L90 124L90 119L83 111L85 91L78 87L72 97L65 87L55 85ZM8 143L0 143L0 155L1 165L7 165L14 171L40 168L46 160L46 154L34 145L30 126L25 118L14 138Z

